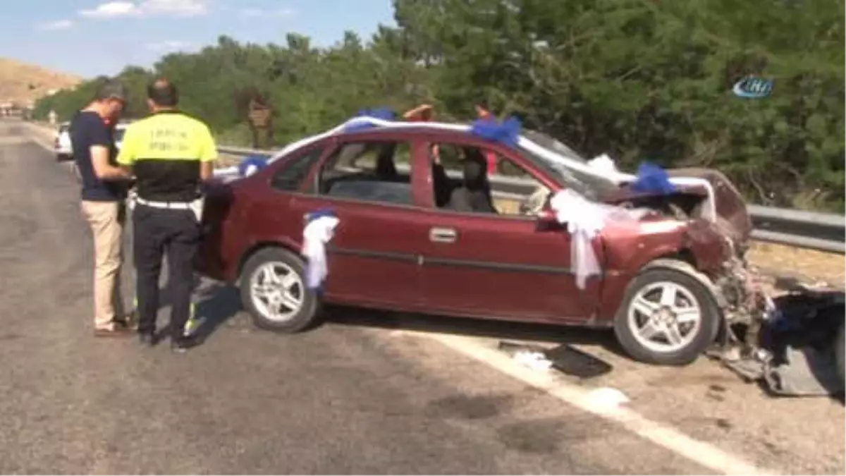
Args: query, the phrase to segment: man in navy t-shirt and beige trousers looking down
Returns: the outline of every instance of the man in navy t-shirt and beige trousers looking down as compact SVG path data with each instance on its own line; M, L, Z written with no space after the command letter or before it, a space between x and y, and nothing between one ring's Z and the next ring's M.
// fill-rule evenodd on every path
M94 100L74 116L70 141L82 180L81 208L94 235L94 333L130 335L120 293L124 199L131 173L115 162L113 124L126 103L126 88L103 83Z

